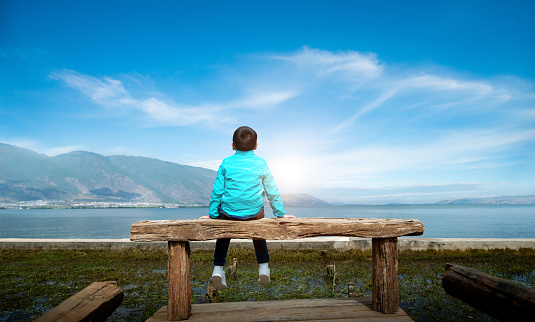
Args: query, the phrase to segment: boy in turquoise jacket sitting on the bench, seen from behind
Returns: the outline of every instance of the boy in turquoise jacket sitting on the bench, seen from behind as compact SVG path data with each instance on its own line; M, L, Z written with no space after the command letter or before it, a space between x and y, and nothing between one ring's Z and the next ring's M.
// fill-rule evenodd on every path
M223 160L212 190L210 216L201 219L255 220L264 217L262 196L266 195L273 214L278 218L295 218L286 215L279 190L266 161L254 154L258 146L256 132L248 127L239 127L232 137L235 154ZM230 238L218 239L214 252L212 282L218 290L227 288L225 271ZM269 252L265 240L253 240L258 262L258 282L269 284Z

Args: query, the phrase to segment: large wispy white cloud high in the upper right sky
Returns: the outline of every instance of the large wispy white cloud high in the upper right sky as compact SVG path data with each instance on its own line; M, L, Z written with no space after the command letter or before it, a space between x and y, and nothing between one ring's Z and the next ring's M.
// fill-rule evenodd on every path
M424 114L431 113L435 113L434 117L440 116L440 113L451 117L454 113L486 112L503 106L514 97L527 96L526 92L519 96L503 81L467 79L432 67L391 66L373 53L329 52L304 47L295 53L273 58L297 68L297 71L291 71L293 75L286 77L299 83L294 86L302 89L302 98L311 100L318 97L323 101L325 95L329 95L331 103L339 106L333 113L341 116L339 121L336 122L336 118L325 120L325 125L331 124L323 131L326 137L354 129L364 116L369 116L366 118L369 122L370 117L386 113L391 114L385 117L393 117L394 114L419 108L422 109L419 115L412 112L401 117L407 120L407 117L422 118ZM284 66L279 68L282 79L287 72L283 70Z

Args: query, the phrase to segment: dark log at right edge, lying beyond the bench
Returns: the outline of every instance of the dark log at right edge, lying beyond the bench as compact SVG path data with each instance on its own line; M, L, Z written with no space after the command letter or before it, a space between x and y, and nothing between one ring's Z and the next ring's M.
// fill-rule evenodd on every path
M447 294L500 320L533 321L535 290L479 272L446 264L442 287Z

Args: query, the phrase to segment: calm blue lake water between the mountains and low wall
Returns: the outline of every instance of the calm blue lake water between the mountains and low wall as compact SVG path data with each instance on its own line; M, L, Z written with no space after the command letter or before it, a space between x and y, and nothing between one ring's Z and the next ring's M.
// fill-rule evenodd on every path
M300 218L418 219L427 238L535 238L535 205L286 207ZM196 219L208 208L0 209L0 238L129 238L140 220ZM269 207L266 218L273 218Z

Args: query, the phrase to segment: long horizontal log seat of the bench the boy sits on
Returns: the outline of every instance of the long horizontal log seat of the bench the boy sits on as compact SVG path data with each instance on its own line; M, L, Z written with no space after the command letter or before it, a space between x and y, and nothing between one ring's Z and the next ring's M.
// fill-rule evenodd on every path
M219 238L284 240L316 236L390 238L424 232L415 219L264 218L251 221L217 219L139 221L132 241L202 241Z

